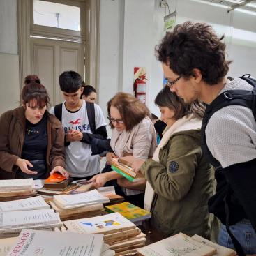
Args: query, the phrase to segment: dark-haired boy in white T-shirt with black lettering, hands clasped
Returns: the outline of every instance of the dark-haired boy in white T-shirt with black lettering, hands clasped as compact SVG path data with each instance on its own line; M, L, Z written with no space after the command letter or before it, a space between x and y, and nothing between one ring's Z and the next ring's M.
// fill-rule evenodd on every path
M106 122L100 106L94 104L95 133L93 134L86 109L81 98L82 77L75 71L66 71L59 76L59 85L65 101L62 103L61 123L65 132L67 170L74 179L91 179L100 172L100 156L91 156L93 137L107 138ZM92 104L92 103L91 103ZM51 114L57 116L56 108Z

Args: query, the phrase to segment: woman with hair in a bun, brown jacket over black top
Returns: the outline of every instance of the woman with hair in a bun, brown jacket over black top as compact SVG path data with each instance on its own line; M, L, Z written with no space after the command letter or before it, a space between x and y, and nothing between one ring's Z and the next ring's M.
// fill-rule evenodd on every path
M26 77L22 106L0 117L0 179L68 176L61 123L47 112L49 96L34 78Z

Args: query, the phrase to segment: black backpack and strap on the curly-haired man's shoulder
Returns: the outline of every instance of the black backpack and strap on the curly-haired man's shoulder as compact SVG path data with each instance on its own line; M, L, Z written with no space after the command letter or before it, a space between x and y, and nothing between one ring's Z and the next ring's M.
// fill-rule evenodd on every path
M236 249L236 253L238 255L245 255L243 252L243 249L239 243L239 241L236 240L234 235L229 229L229 225L232 225L236 223L235 219L230 218L229 213L234 212L235 209L232 209L234 205L232 205L232 202L236 201L236 198L234 198L234 193L232 189L229 186L228 181L223 180L223 176L221 178L221 171L222 166L220 165L220 162L213 158L211 152L209 151L209 148L206 144L206 136L205 136L205 129L207 124L209 123L209 120L211 116L218 110L220 110L223 107L229 106L229 105L241 105L244 107L250 108L250 110L253 111L253 116L256 120L256 80L250 77L250 74L243 75L240 77L243 80L246 80L248 84L251 84L253 86L252 91L246 91L246 90L228 90L224 93L221 93L210 105L206 106L204 118L202 121L202 128L201 128L201 145L202 145L202 151L206 155L206 158L208 158L209 162L216 168L216 179L220 177L220 183L218 184L218 187L220 188L220 194L219 196L223 198L223 200L218 199L216 195L214 195L209 200L209 209L212 207L214 209L216 216L218 216L218 210L220 208L220 205L225 208L225 217L222 216L221 213L219 213L218 218L222 220L222 222L225 222L227 233L232 239L232 242L234 244L234 248ZM216 200L217 199L217 200ZM230 208L231 207L231 208ZM239 214L243 215L243 209L241 209L241 206L237 206L236 211L239 212ZM223 220L223 218L225 220Z

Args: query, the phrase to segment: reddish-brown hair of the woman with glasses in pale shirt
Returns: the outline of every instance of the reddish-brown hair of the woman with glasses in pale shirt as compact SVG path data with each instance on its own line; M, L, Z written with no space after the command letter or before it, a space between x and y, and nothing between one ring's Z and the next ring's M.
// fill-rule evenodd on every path
M117 110L119 110L123 123L126 126L126 130L131 130L146 116L150 117L150 112L146 105L129 93L116 93L116 95L107 103L107 113L109 116L111 106L116 107ZM111 121L110 127L114 128Z

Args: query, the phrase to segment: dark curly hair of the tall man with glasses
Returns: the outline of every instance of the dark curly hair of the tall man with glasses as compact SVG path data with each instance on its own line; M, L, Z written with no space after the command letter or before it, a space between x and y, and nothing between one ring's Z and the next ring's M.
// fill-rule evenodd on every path
M202 80L209 85L218 84L229 70L232 61L225 60L224 36L218 38L209 24L185 22L166 33L156 45L156 57L174 73L184 78L198 68Z

